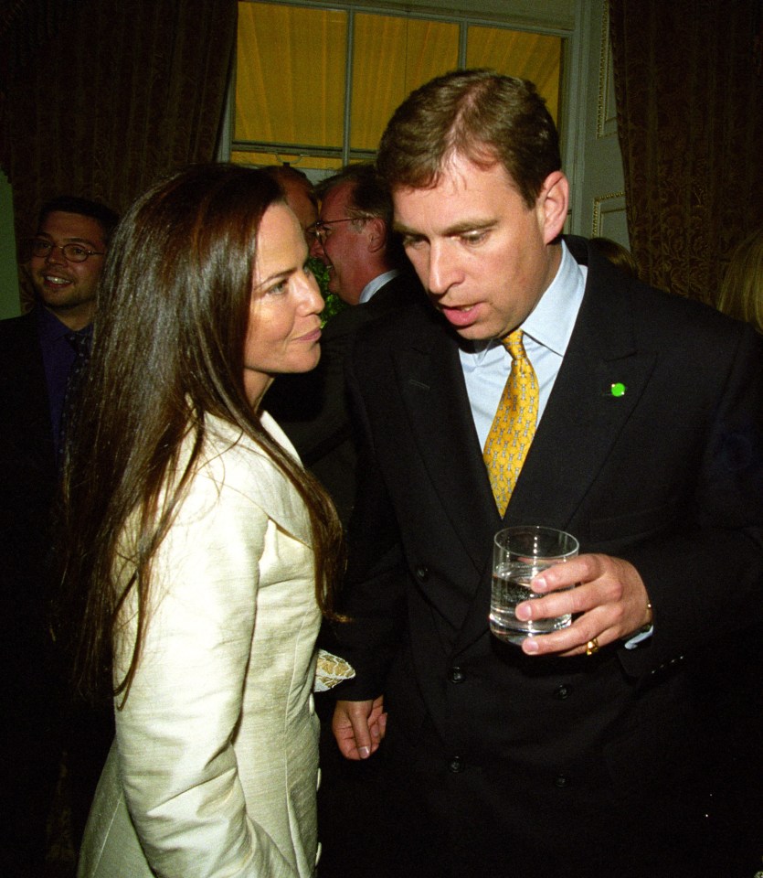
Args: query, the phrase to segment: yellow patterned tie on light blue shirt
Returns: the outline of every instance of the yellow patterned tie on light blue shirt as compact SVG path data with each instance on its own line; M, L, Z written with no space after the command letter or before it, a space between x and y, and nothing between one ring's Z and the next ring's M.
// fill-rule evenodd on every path
M514 329L503 339L503 346L512 355L512 369L482 452L502 518L533 441L538 417L538 380L525 354L522 330Z

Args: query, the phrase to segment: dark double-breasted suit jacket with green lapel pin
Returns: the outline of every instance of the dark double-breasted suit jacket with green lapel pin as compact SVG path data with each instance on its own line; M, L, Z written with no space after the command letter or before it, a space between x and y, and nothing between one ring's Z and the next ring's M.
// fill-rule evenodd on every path
M693 655L763 605L759 338L568 243L588 262L586 292L503 521L444 320L389 316L348 357L362 450L355 621L339 637L357 677L338 697L385 694L382 748L416 803L406 819L427 815L408 830L439 819L434 843L460 876L657 874L643 872L650 854L667 874L660 835L686 863L679 817L693 831L705 803L658 802L684 795L676 777L702 733ZM492 637L493 534L527 523L632 562L651 640L537 659Z

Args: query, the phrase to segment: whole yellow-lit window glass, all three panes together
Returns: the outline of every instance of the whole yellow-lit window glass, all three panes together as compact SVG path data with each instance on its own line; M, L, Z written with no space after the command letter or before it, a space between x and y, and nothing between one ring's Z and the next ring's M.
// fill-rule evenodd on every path
M238 3L232 161L289 162L328 173L340 164L344 149L351 161L372 158L389 117L410 91L458 67L455 22L360 9L353 20L350 131L345 132L350 14L313 5ZM466 30L468 67L535 81L557 119L560 37L476 25Z

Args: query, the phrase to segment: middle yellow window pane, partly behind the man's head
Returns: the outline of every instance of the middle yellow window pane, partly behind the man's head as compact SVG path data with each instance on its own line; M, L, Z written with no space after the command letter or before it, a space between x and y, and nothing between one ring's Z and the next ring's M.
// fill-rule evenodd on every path
M355 16L350 145L376 150L406 96L458 66L459 27L417 18Z

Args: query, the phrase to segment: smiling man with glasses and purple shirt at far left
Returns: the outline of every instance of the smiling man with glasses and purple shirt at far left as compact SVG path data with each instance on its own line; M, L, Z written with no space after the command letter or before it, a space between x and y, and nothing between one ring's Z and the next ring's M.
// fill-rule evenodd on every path
M116 215L83 198L40 210L24 259L36 304L0 322L0 585L3 618L2 845L7 875L41 873L60 765L60 683L49 634L51 517L72 367L90 343L96 285ZM69 397L67 388L69 385Z

